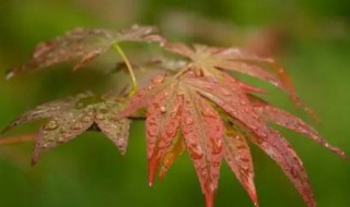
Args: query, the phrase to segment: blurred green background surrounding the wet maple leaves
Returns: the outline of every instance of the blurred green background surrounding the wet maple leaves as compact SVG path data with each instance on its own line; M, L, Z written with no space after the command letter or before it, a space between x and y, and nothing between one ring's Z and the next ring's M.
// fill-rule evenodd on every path
M0 72L25 61L38 41L65 31L132 23L158 25L172 40L237 45L276 57L302 99L317 111L320 122L315 127L350 154L349 0L2 0ZM96 70L72 73L67 65L57 68L61 70L0 78L1 127L37 104L88 88L98 90L108 78ZM285 95L267 87L270 101L312 122ZM7 135L36 129L37 124L27 124ZM283 132L304 160L318 206L349 207L349 161L299 134ZM32 148L32 143L0 146L1 207L205 206L187 154L163 181L148 187L141 121L132 125L125 157L93 132L45 154L34 168ZM261 207L305 206L277 165L255 146L253 154ZM226 165L215 206L253 206Z

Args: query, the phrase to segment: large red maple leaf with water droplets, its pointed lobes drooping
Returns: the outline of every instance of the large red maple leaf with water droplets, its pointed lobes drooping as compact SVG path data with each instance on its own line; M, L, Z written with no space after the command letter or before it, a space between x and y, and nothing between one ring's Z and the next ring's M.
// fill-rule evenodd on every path
M232 66L241 73L268 81L299 101L291 84L285 81L285 73L273 73L260 66L250 66L250 63L234 64L233 61L241 60L272 62L237 50L195 46L194 51L183 44L168 42L165 47L190 57L192 61L176 75L154 77L149 86L131 97L118 115L128 117L139 109L148 109L150 185L160 165L160 176L163 178L176 157L187 149L207 207L213 206L222 158L258 206L253 158L246 142L250 139L282 168L307 206L314 207L314 195L302 161L269 123L304 134L341 157L346 154L327 143L301 119L254 98L252 92L264 90L228 75L221 68L230 70Z

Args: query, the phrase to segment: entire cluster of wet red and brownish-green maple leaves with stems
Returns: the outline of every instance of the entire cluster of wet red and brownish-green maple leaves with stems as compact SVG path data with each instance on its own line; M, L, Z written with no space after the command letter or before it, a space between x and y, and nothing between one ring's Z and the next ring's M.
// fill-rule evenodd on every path
M139 80L133 75L135 64L124 53L122 41L156 42L164 53L175 53L177 60L162 58L137 65L145 71L162 71L155 72L145 87L137 88ZM33 163L43 150L67 143L86 130L104 133L125 154L130 121L141 118L145 120L150 185L156 173L163 178L176 158L187 150L207 207L214 205L223 160L258 206L249 141L281 167L306 205L314 207L314 195L302 161L271 123L301 133L346 157L303 120L260 99L258 95L266 93L264 89L244 83L235 75L241 73L268 82L313 113L300 101L287 72L273 59L257 57L240 48L170 42L154 27L136 25L120 32L74 29L39 44L32 58L10 71L7 77L71 60L78 61L73 66L75 70L110 48L124 59L133 88L126 94L102 96L82 93L37 106L22 114L7 130L33 120L46 120L36 137Z

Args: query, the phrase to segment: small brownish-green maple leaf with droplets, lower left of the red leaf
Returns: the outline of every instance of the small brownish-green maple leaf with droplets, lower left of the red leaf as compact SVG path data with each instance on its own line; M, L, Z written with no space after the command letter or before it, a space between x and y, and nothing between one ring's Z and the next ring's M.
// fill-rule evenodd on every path
M19 117L3 132L30 121L47 120L36 136L33 165L43 150L65 144L89 129L102 131L124 155L128 145L130 120L115 117L122 107L122 100L110 96L96 97L90 92L82 93L39 105Z

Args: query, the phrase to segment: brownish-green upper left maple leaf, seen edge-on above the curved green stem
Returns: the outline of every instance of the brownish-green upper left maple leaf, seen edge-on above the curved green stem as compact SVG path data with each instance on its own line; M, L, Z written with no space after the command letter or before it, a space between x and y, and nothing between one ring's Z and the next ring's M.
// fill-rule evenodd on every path
M71 60L78 60L74 65L77 70L121 41L163 42L164 38L158 34L156 28L151 26L133 25L120 32L75 28L63 36L38 44L32 58L23 65L9 71L7 78L22 71L47 68Z

